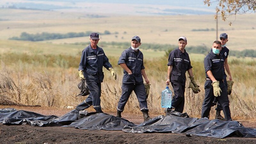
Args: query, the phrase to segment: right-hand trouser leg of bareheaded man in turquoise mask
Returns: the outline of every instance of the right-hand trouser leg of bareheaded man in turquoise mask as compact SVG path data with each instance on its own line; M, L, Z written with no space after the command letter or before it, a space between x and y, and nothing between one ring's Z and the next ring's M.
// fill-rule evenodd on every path
M220 93L220 96L217 97L218 103L220 103L221 107L223 108L225 120L231 121L232 119L231 119L231 114L229 109L228 92L224 82L220 82L220 89L222 92Z

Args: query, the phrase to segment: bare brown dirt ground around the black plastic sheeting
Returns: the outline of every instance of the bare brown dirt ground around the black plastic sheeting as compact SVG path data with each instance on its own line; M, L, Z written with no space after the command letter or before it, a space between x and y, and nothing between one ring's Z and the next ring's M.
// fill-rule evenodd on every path
M0 106L7 108L7 106ZM17 107L16 110L37 112L43 115L62 116L70 109L42 108L42 107ZM113 114L114 113L109 113ZM123 115L125 119L139 124L143 121L142 115ZM152 116L154 117L154 116ZM245 127L256 128L255 121L240 121ZM256 138L211 138L202 136L186 136L177 133L125 133L123 131L106 130L80 130L73 127L33 127L28 125L6 126L0 124L0 143L256 143Z

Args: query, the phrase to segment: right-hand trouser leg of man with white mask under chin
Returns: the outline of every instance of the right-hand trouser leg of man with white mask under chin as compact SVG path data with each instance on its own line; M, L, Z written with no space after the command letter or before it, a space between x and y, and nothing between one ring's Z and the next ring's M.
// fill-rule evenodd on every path
M135 84L133 91L140 103L140 111L148 111L147 96L144 84Z

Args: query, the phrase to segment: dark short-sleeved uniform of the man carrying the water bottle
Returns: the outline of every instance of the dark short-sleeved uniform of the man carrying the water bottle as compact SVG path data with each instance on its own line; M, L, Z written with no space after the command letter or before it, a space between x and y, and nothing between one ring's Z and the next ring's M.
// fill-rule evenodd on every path
M172 108L175 108L176 112L183 112L185 104L185 84L186 84L186 71L188 71L191 66L188 53L182 53L179 48L173 50L169 54L168 66L172 65L171 73L171 84L174 91L174 96L172 98Z

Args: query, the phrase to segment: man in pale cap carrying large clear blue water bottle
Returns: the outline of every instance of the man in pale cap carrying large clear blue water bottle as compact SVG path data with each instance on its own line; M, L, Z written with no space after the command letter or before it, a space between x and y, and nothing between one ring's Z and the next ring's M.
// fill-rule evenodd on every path
M173 111L176 112L183 112L184 109L184 103L185 103L185 83L186 83L186 71L188 71L190 83L192 83L192 89L194 93L198 93L199 85L196 84L194 80L194 75L192 72L192 66L189 59L189 55L185 50L185 47L187 45L187 38L182 36L179 38L179 47L175 50L173 50L169 54L168 58L168 79L165 82L166 84L169 84L171 82L174 96L172 98L172 106L171 108L167 108L165 110L166 115L170 115L170 113Z

